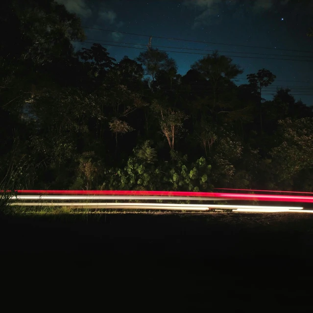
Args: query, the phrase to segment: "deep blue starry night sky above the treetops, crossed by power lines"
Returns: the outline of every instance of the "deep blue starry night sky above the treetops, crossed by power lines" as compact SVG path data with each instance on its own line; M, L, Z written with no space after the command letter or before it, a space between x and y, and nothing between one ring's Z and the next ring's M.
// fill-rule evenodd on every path
M187 48L217 49L220 54L232 56L234 63L244 69L237 84L247 83L246 74L265 68L277 76L274 87L267 88L268 96L265 98L272 98L277 87L290 88L296 99L301 98L307 105L313 105L313 37L306 35L313 26L313 0L57 1L76 13L82 26L146 35L84 28L86 42L102 44L117 61L124 55L131 59L137 57L144 51L139 48L146 49L149 36L152 36L151 46L154 48L190 52L169 52L177 62L178 73L184 75L194 61L212 52ZM73 45L75 48L89 48L91 44Z

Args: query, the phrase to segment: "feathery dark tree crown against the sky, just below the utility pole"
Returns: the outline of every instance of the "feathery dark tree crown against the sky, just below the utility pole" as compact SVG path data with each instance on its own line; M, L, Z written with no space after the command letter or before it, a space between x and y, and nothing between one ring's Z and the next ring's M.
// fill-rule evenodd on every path
M170 58L167 52L159 51L158 48L140 52L136 60L144 66L145 73L152 76L153 82L157 72L169 71L171 68L177 69L175 60Z

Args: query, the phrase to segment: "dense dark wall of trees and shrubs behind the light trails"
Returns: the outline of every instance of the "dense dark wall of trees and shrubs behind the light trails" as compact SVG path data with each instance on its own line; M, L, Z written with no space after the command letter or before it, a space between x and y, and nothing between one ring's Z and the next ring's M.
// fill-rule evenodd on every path
M158 49L120 62L52 0L1 4L0 174L28 189L313 191L313 108L215 52L185 75ZM148 78L147 78L148 77ZM12 153L14 151L14 153ZM23 161L23 162L22 162ZM23 166L20 166L22 163ZM14 165L14 166L13 166Z

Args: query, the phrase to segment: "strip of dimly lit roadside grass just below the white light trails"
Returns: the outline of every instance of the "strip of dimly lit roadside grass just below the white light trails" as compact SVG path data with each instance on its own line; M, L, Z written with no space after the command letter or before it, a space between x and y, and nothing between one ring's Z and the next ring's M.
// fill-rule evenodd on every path
M162 223L175 220L175 223L195 223L198 225L229 225L257 231L266 228L271 231L305 232L313 234L313 215L308 213L236 213L186 210L140 210L140 209L95 209L72 208L66 206L10 206L9 218L27 220L48 220L61 222L102 222L107 216L159 216ZM163 218L163 217L164 218ZM157 218L159 220L159 218ZM161 220L160 220L161 221ZM152 220L149 219L149 223ZM178 224L177 224L178 225Z

